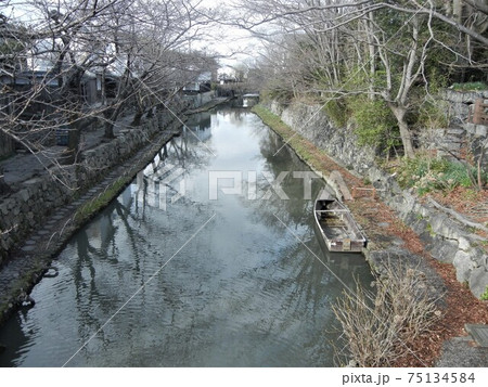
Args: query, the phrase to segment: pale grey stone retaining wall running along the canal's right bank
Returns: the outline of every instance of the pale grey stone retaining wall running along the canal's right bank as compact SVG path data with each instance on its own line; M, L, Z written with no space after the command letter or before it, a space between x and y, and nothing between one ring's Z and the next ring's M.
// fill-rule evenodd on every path
M464 107L465 104L461 104ZM272 102L267 108L280 116L304 138L325 151L338 165L368 178L383 201L420 235L427 251L439 261L452 263L457 270L458 281L466 283L476 297L479 298L484 294L488 286L488 255L483 245L487 241L477 236L471 227L466 227L459 220L460 218L453 217L438 204L424 203L413 192L401 190L395 177L376 166L374 150L357 146L356 136L350 128L334 128L320 105L297 102L283 106ZM453 105L452 108L457 107ZM459 115L465 114L463 111ZM468 129L467 125L464 132L471 138L463 141L486 140L486 130ZM398 255L398 248L396 247L393 253ZM370 259L374 259L374 255L370 255Z

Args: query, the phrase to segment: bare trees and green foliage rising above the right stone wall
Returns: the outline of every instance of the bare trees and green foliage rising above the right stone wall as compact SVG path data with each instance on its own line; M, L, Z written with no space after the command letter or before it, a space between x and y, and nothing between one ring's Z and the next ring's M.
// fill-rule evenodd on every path
M485 0L246 0L235 23L266 41L258 66L271 95L313 99L342 124L357 113L364 139L400 140L413 157L425 113L442 120L432 94L487 80L487 9ZM382 121L365 115L384 108Z

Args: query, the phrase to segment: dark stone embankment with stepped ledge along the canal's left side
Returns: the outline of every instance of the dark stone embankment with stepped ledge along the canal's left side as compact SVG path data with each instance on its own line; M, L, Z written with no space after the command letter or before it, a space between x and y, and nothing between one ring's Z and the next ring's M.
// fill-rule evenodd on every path
M171 114L157 114L84 152L78 165L36 173L2 197L0 323L28 304L31 287L73 232L100 209L100 203L107 204L117 195L166 142L178 136L180 127Z

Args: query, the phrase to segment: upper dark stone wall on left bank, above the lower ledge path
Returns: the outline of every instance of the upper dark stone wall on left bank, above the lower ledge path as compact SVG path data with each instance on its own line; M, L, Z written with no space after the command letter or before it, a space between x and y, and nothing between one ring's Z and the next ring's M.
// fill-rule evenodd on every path
M36 227L42 224L44 218L55 208L70 202L80 190L102 180L105 172L132 156L171 122L172 116L169 114L158 115L138 129L126 130L113 141L86 151L80 165L57 170L65 185L44 175L24 181L18 192L2 198L0 265L9 250Z

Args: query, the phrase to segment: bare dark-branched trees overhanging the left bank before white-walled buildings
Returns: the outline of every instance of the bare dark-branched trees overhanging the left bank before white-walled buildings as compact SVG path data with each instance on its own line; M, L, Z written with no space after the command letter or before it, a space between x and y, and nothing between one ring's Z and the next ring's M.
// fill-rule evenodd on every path
M76 163L88 125L103 122L104 137L113 138L123 113L167 104L213 61L191 50L210 23L195 0L25 0L16 7L0 4L0 131L42 163ZM95 77L93 101L87 88ZM68 147L49 153L60 131L69 133Z

